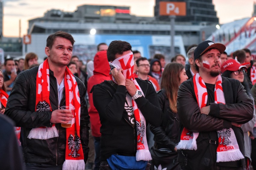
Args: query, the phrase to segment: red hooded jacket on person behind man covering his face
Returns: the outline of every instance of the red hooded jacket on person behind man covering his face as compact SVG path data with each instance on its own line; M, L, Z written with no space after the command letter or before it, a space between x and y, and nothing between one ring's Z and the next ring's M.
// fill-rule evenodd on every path
M94 70L93 76L89 78L87 82L87 92L89 97L90 107L88 109L90 115L92 135L94 137L100 137L100 120L99 113L93 105L93 94L90 93L92 87L96 84L102 83L104 80L110 80L109 72L110 66L107 59L107 51L99 51L94 57Z

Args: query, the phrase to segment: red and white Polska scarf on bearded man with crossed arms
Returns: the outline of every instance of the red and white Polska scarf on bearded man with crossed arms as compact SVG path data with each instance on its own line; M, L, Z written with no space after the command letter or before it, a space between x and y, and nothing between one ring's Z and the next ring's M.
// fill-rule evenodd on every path
M206 106L208 99L206 85L203 79L197 73L193 78L194 91L197 98L197 103L200 109ZM218 75L214 88L215 103L225 104L224 92L222 89L222 78ZM244 156L239 150L236 136L232 128L222 129L217 131L218 148L216 162L229 162L243 159ZM181 141L177 145L177 149L197 150L197 137L199 133L191 132L184 128L181 133Z

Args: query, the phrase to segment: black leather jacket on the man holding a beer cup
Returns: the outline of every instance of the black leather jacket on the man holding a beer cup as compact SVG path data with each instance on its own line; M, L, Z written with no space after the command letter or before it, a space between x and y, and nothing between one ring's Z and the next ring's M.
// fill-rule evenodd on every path
M59 137L40 140L28 139L29 131L39 126L51 127L50 123L52 111L35 112L36 98L36 76L38 66L21 72L13 86L8 98L5 114L14 120L16 126L21 127L20 140L23 147L25 162L63 164L65 161L66 129L59 123L55 124L59 132ZM87 104L84 100L86 89L81 80L75 77L81 101L80 137L84 151L84 161L88 157L88 124L89 115ZM57 80L50 70L50 105L52 110L58 109ZM65 89L60 106L65 105Z

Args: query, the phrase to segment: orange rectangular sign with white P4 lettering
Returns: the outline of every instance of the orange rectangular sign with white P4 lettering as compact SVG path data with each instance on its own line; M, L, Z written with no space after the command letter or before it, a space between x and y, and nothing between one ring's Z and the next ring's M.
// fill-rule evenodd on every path
M159 3L160 15L186 16L186 2L166 2Z

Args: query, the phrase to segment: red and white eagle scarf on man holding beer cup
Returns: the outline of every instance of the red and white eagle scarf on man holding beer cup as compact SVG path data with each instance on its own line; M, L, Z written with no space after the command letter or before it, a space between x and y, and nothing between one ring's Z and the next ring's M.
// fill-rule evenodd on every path
M75 113L70 128L66 128L66 153L63 170L84 170L84 153L80 139L80 95L78 84L74 75L66 67L64 75L64 86L66 96L66 106L75 107ZM48 59L40 64L36 78L36 112L52 111L50 106L50 77ZM58 137L58 131L55 124L51 128L39 127L30 130L28 138L31 139L50 139Z

